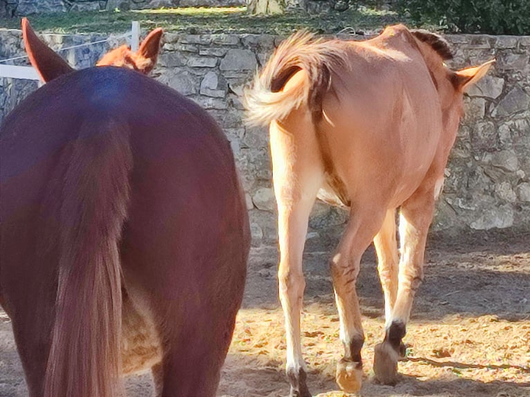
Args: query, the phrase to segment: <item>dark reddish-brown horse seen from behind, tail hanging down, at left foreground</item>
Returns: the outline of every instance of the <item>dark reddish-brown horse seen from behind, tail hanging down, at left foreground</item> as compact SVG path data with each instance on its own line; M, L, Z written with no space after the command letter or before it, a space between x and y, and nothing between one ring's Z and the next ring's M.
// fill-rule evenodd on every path
M49 82L0 129L0 304L30 396L123 396L143 369L157 396L214 396L250 246L228 140L136 71L32 60Z

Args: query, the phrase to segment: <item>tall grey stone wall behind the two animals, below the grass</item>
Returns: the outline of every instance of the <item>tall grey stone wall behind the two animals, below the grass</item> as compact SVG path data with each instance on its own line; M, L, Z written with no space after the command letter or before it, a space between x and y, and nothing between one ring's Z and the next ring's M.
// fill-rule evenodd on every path
M100 39L101 35L43 35L53 48ZM466 95L466 116L446 169L434 230L530 230L530 37L448 35L453 68L497 63ZM77 68L95 64L110 46L64 54ZM256 67L282 38L271 35L183 35L165 33L157 80L199 102L221 124L235 152L246 190L254 245L275 243L275 199L266 129L244 125L241 95ZM24 55L21 33L0 31L0 59ZM35 82L0 78L0 120ZM327 248L347 216L318 203L309 222L308 244Z

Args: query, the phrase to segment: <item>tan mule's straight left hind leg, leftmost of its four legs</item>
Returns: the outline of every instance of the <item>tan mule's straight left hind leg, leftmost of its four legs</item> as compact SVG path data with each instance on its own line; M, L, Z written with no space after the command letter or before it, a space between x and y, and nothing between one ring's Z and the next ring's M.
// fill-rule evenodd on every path
M286 120L285 127L276 122L271 124L271 156L278 207L278 283L285 316L286 373L291 384L290 396L310 397L300 344L300 311L305 288L302 253L309 214L324 179L324 168L311 114L300 113Z

